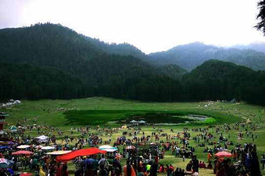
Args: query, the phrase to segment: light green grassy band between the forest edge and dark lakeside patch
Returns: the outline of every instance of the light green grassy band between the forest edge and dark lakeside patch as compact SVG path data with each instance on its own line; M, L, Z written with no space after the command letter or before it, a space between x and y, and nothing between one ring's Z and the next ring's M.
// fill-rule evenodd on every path
M209 109L203 109L198 107L199 104L204 105L205 103L142 103L137 101L92 97L73 100L22 101L21 105L2 111L9 113L10 116L8 117L8 121L11 124L22 121L24 117L33 119L35 116L39 116L37 120L38 124L46 123L53 126L62 126L69 124L69 121L65 118L63 111L58 111L56 108L74 108L77 110L161 110L185 114L196 113L213 116L216 118L216 123L218 124L241 120L239 116L246 113L247 109L251 109L255 113L261 109L260 107L252 105L233 105L227 103L216 103ZM221 106L223 109L227 110L212 110L215 108L219 109ZM236 114L237 117L234 116L237 111L233 109L240 109L241 114L239 114L239 116ZM28 124L33 123L33 121L28 122Z

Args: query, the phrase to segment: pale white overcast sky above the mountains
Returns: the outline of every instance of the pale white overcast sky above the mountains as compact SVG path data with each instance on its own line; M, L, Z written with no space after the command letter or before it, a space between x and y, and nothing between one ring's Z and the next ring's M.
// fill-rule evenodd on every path
M109 43L145 53L179 44L219 46L265 42L258 0L0 0L0 28L60 23Z

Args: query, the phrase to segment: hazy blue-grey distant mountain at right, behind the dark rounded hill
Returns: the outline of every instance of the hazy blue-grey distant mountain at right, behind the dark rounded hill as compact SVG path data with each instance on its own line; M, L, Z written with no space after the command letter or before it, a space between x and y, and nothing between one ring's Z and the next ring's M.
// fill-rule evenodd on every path
M167 51L149 54L153 61L160 64L176 64L187 70L210 59L232 62L248 66L254 70L265 70L265 53L251 49L219 48L199 42L179 45Z

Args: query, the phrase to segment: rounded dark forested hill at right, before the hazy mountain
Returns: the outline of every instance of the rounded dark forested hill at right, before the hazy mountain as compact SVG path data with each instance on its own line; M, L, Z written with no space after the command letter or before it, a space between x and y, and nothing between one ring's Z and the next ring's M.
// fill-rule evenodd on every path
M265 71L253 71L245 66L218 60L209 60L182 78L185 99L244 100L264 103Z

